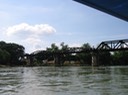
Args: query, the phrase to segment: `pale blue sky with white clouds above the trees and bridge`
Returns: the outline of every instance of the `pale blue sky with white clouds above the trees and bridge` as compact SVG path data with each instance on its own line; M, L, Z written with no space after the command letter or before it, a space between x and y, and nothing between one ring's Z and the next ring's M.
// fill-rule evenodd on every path
M128 22L73 0L0 0L0 41L25 52L127 39Z

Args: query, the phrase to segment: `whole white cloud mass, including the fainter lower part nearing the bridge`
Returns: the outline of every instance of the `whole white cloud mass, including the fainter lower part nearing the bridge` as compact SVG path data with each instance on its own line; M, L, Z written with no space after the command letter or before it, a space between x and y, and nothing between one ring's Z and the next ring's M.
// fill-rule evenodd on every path
M47 35L52 35L56 29L48 24L29 25L21 23L5 29L4 36L12 42L23 45L27 52L44 48Z

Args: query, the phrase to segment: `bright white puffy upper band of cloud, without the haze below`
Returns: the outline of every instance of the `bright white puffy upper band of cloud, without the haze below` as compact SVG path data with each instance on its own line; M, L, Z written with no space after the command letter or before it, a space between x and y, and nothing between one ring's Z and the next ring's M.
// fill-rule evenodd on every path
M44 34L52 34L55 32L56 30L48 24L29 25L27 23L21 23L19 25L8 27L6 30L6 35L12 36L14 34L19 34L19 33L27 33L32 35L42 35L42 34L44 35Z

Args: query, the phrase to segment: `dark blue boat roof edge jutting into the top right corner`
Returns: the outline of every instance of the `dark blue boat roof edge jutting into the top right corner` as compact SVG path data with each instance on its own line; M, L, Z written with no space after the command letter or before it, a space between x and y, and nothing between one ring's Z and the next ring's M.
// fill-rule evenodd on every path
M128 0L74 0L128 21Z

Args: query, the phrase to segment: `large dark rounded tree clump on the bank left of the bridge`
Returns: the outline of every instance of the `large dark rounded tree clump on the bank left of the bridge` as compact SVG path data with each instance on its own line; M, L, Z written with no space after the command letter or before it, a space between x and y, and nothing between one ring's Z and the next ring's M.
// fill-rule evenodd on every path
M20 66L23 65L25 48L15 43L0 42L0 65Z

